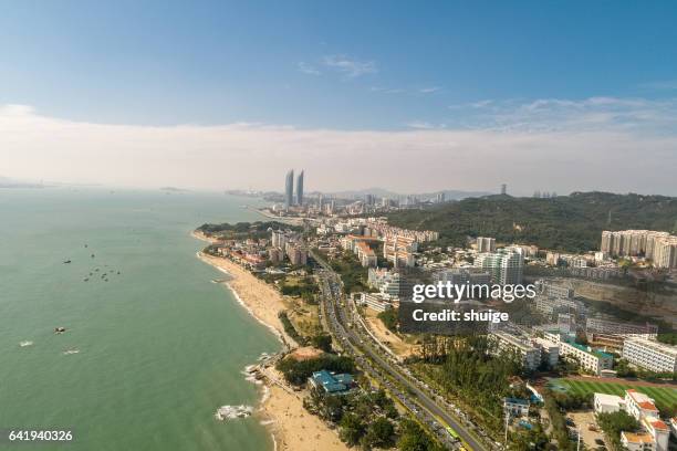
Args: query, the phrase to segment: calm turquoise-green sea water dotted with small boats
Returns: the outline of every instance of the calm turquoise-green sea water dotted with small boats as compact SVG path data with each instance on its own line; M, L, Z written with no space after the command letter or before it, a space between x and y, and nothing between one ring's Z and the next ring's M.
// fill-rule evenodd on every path
M280 345L210 282L222 274L196 258L204 243L189 235L202 222L259 220L242 208L256 202L0 190L0 428L75 436L69 445L9 449L272 449L257 418L213 413L257 403L241 371ZM56 326L67 332L55 335Z

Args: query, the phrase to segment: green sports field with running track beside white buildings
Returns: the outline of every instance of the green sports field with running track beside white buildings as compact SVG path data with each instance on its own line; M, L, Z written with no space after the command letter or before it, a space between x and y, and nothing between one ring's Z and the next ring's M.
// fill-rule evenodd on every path
M572 380L572 379L553 379L550 382L551 387L561 387L566 391L591 395L606 394L625 396L625 390L634 388L635 390L646 394L656 401L656 407L659 410L677 406L677 388L671 387L644 387L636 386L633 382L610 382L600 380Z

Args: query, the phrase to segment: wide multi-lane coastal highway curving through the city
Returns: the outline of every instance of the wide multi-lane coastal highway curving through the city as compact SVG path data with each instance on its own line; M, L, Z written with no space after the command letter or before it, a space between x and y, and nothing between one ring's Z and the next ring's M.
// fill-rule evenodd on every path
M320 287L322 291L322 306L326 324L330 332L338 339L344 349L350 350L356 361L365 369L369 376L379 380L386 386L388 391L397 397L408 410L410 410L419 421L427 424L429 429L436 432L438 439L450 449L459 449L457 441L446 431L446 428L439 424L441 420L446 426L451 427L461 440L466 448L477 451L489 450L485 443L471 433L459 420L448 413L440 407L431 396L426 394L416 384L414 384L396 365L390 364L365 343L363 337L358 336L351 329L348 313L341 305L342 289L338 275L324 262L312 253L324 269L319 272ZM348 326L348 327L346 327ZM364 357L368 357L368 359ZM375 364L375 365L372 365ZM387 377L386 377L387 376ZM403 394L392 380L405 387L406 394ZM415 401L412 400L415 398Z

